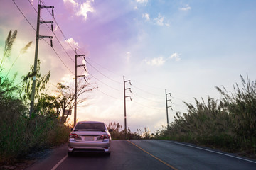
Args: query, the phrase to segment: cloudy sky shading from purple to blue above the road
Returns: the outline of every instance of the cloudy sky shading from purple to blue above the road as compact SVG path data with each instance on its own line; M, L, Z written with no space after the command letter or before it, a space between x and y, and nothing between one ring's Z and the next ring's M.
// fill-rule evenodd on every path
M15 3L14 3L15 2ZM10 30L18 30L11 57L11 75L21 79L35 57L37 0L0 0L0 54ZM41 18L53 21L40 25L40 35L53 36L39 41L41 72L50 70L48 93L58 82L74 84L75 47L78 74L97 87L85 94L78 106L78 120L119 122L124 128L124 80L127 126L149 128L166 126L166 95L169 122L176 112L186 113L186 103L194 98L220 99L215 86L233 92L241 85L240 75L256 79L256 1L254 0L43 0L54 6L54 18L46 8ZM17 7L18 6L18 7ZM19 8L19 9L18 9ZM19 11L20 10L20 11ZM22 13L23 14L22 14ZM28 23L29 22L29 23ZM19 51L32 41L28 52ZM2 55L0 55L2 57ZM71 115L70 121L72 121Z

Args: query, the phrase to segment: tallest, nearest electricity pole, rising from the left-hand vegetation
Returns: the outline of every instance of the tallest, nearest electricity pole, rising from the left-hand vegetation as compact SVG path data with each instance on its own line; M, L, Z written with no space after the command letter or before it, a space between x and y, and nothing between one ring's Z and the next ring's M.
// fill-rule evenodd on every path
M35 50L35 61L34 61L34 68L33 68L33 83L32 83L32 92L31 92L31 107L29 111L29 118L33 113L34 103L35 103L35 94L36 94L36 69L37 69L37 62L38 62L38 43L41 38L50 38L50 46L53 47L52 36L41 36L39 35L39 28L40 23L51 23L51 29L53 31L53 21L41 21L40 20L40 11L41 8L52 8L52 16L53 16L53 8L54 6L42 6L41 0L38 0L38 16L37 16L37 23L36 23L36 50Z

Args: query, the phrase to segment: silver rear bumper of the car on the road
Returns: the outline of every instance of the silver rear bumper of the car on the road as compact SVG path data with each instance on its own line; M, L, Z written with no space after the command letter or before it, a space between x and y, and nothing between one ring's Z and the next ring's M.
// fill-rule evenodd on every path
M68 141L68 152L105 152L110 153L110 140L102 142L77 142Z

